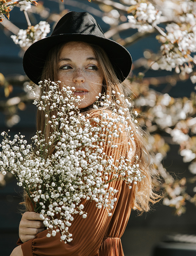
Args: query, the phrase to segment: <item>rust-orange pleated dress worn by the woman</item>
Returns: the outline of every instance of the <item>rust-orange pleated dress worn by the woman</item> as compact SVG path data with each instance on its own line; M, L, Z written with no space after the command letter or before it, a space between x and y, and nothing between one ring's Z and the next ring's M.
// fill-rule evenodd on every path
M113 141L113 138L111 138ZM115 139L118 150L105 146L107 156L112 155L119 159L120 155L127 157L129 151L126 133ZM117 189L115 194L117 201L114 203L112 216L108 216L105 208L98 209L94 201L83 199L84 211L88 213L83 219L77 214L69 227L73 234L72 242L65 244L60 242L60 234L55 237L46 237L47 230L37 234L34 239L23 243L24 256L123 256L121 236L127 225L131 208L133 189L129 189L124 181L113 181L110 186ZM20 241L18 242L18 245Z

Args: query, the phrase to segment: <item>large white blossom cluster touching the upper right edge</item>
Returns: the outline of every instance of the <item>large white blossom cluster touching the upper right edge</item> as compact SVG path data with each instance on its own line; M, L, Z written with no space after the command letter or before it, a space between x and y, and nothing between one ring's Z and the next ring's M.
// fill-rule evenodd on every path
M162 43L160 48L162 58L157 61L160 69L172 71L176 68L177 73L181 69L190 74L193 70L189 61L194 61L190 53L196 52L196 24L190 26L190 23L183 25L171 23L166 26L166 31L166 36L159 37Z

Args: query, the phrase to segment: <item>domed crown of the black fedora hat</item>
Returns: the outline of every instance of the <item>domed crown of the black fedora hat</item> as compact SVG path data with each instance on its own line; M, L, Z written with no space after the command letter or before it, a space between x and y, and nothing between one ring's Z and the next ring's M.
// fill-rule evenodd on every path
M58 21L51 36L59 34L91 34L105 37L90 13L76 11L68 12Z

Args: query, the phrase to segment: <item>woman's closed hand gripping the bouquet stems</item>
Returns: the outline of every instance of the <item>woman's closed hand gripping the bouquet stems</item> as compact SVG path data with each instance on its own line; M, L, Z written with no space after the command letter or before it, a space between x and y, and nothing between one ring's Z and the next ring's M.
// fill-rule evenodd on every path
M27 242L41 231L45 230L40 214L36 212L25 212L19 225L19 237L21 241Z

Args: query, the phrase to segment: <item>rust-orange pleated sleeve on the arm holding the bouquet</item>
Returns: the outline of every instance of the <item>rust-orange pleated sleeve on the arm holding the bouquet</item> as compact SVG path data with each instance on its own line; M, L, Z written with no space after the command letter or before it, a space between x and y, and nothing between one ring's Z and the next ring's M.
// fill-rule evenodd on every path
M96 115L96 114L95 114ZM113 138L111 137L112 141ZM106 143L104 153L106 156L112 156L114 160L118 160L120 156L127 155L127 138L126 134L121 133L121 136L115 138L115 143L118 144L118 150L111 147L111 143ZM104 176L104 175L103 175ZM104 177L102 177L104 179ZM110 179L110 177L109 177ZM118 190L115 194L117 201L114 203L114 208L111 213L115 215L115 210L118 205L118 200L121 195L123 181L117 180L109 183L109 186ZM121 199L120 199L121 200ZM60 241L60 234L55 237L46 237L47 230L39 233L36 237L22 244L24 256L94 256L97 254L99 247L102 244L108 227L111 227L112 216L108 216L108 211L102 206L101 209L96 207L94 201L83 199L84 211L87 212L87 218L82 218L76 214L72 225L69 227L72 233L72 242L65 244ZM115 213L115 214L114 214ZM112 227L111 227L112 228Z

